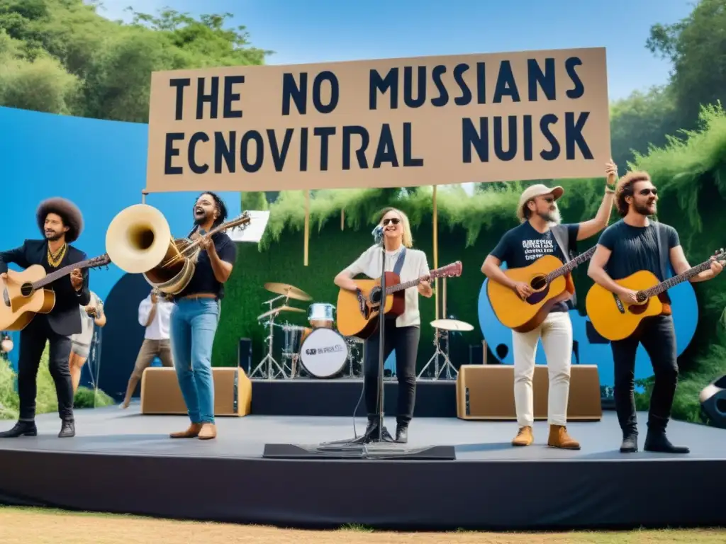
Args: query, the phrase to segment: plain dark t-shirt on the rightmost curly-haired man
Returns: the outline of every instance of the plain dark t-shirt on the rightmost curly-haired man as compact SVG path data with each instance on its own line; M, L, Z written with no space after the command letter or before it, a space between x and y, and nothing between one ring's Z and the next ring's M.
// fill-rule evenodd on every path
M661 225L661 236L668 239L668 249L680 245L676 229L672 226ZM612 279L623 279L632 273L647 270L656 275L659 281L664 281L661 272L661 254L658 250L656 225L652 222L645 227L631 226L620 220L605 228L600 240L603 247L611 250L605 272ZM666 256L667 262L670 257Z

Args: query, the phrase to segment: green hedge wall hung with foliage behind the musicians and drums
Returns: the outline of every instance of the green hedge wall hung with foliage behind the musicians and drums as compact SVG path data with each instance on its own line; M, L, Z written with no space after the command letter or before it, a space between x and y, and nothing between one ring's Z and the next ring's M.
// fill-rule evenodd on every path
M658 186L658 220L679 231L685 253L692 265L709 257L719 247L726 247L726 114L720 104L703 108L701 128L685 133L686 139L670 139L663 148L635 155L635 162L619 165L619 170L647 170ZM603 171L604 171L603 165ZM530 182L531 183L531 182ZM582 221L592 218L599 207L604 177L597 179L544 180L560 184L566 194L560 202L563 220ZM481 343L477 300L484 281L481 263L508 228L517 224L514 208L523 186L529 183L496 184L477 191L473 197L462 194L457 186L439 188L439 266L461 260L460 278L447 283L447 312L475 327L468 333L466 345ZM244 200L244 199L243 199ZM219 332L216 336L213 364L230 366L237 362L240 337L253 340L253 365L266 352L266 329L256 316L267 307L264 300L274 297L266 292L267 281L293 284L311 294L313 302L335 304L338 289L333 277L372 243L370 231L375 213L386 205L400 207L412 220L415 247L424 250L433 268L432 190L419 189L347 189L315 191L311 199L311 236L309 266L303 266L304 196L302 191L282 192L270 207L266 234L259 244L239 244L239 257L227 284L227 298L222 305ZM345 213L345 228L340 228L340 212ZM618 216L613 210L612 221ZM597 242L597 236L580 242L581 250ZM696 337L680 358L681 380L674 416L701 421L698 391L708 382L726 374L726 338L723 337L723 311L726 307L726 276L695 284L701 315ZM575 273L580 311L584 312L584 293L592 284L585 267ZM293 302L307 310L308 302ZM421 300L423 323L433 321L434 299ZM306 313L289 313L284 321L305 325ZM433 353L432 329L423 326L418 366ZM277 352L280 349L280 337ZM452 346L453 347L453 346ZM454 362L468 362L465 345L452 350ZM275 354L277 358L277 353ZM278 359L279 360L279 359ZM645 384L648 387L648 383ZM648 400L648 392L639 399Z

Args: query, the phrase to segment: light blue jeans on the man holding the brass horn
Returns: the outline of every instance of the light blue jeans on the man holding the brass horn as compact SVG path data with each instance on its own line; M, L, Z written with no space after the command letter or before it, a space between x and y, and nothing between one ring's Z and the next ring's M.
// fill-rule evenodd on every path
M219 323L219 302L181 299L171 310L171 351L181 395L192 423L214 423L212 345Z

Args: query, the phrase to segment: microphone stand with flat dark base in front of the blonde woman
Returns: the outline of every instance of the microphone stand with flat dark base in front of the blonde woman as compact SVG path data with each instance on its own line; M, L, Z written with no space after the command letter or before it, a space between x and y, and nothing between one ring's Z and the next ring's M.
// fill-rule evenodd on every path
M386 245L383 231L373 231L375 242L380 244L380 301L378 305L378 413L376 424L370 433L351 440L322 442L318 445L265 444L263 458L362 458L362 459L406 459L419 461L455 461L454 446L420 446L409 448L395 442L383 425L383 364L386 353ZM380 239L378 239L380 236ZM370 297L370 295L369 295ZM373 302L373 301L370 301ZM365 364L365 363L364 363ZM365 369L364 369L365 374Z

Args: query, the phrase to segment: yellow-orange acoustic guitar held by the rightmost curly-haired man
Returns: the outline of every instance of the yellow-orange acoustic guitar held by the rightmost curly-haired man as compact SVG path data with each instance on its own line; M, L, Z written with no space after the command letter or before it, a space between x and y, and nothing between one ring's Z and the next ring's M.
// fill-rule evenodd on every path
M726 252L716 255L717 260L723 260L724 257ZM590 318L595 330L606 339L613 341L627 338L635 332L643 319L650 316L670 316L672 310L666 302L664 293L709 268L711 268L710 259L666 281L658 281L658 277L647 270L613 280L621 287L637 292L635 295L637 302L634 304L623 302L617 294L608 291L600 284L594 284L585 298L587 317Z

